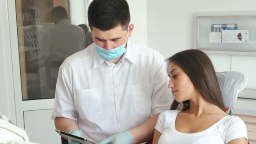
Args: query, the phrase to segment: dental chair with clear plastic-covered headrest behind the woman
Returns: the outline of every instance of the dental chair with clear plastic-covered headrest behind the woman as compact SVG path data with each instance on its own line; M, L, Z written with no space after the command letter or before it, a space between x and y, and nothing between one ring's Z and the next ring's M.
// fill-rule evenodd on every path
M216 75L219 80L226 112L229 110L229 115L232 115L232 106L237 101L238 94L246 87L248 79L243 73L235 71L216 72ZM148 141L146 144L152 144L152 141ZM248 144L250 144L249 141Z

